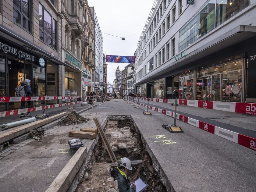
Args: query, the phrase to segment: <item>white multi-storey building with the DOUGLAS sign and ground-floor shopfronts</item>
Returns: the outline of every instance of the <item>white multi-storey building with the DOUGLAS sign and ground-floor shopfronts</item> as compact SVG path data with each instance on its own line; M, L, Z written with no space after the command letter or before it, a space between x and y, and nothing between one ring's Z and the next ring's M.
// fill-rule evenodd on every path
M136 50L136 86L150 98L255 98L256 1L161 0ZM244 19L246 18L246 19Z

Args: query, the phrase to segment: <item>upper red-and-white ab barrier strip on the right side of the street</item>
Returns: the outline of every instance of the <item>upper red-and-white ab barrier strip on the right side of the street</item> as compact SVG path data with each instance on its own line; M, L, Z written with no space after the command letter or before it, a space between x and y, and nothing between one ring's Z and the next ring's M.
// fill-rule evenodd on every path
M138 99L134 97L134 99ZM160 103L175 103L175 99L157 99L157 98L139 98L141 100L154 101ZM227 112L236 112L248 115L256 115L256 104L255 103L234 103L234 102L221 102L221 101L198 101L198 100L187 100L177 99L179 105L193 106L207 109L215 109Z

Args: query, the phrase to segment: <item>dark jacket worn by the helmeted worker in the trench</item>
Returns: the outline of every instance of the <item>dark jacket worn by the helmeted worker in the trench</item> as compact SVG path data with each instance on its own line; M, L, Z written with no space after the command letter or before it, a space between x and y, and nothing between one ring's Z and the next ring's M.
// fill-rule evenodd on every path
M117 168L111 171L111 176L114 178L114 181L117 180L119 192L136 192L133 187L130 187L131 184L128 176L126 179L124 175L121 175Z

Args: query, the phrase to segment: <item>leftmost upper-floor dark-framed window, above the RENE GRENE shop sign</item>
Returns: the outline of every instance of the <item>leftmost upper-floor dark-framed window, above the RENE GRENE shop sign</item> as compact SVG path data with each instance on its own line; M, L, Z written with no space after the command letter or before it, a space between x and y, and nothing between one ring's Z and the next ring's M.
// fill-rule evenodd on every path
M13 1L13 22L31 32L30 0Z

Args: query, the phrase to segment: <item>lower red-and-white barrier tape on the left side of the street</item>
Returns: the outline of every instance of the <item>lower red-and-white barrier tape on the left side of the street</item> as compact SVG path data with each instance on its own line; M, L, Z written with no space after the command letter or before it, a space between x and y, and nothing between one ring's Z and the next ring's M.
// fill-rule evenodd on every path
M87 101L87 100L84 100L84 101ZM76 101L76 102L71 102L71 103L54 104L54 105L44 105L44 106L40 106L40 107L31 107L31 108L25 108L25 109L16 109L16 110L11 110L11 111L5 111L5 112L0 112L0 117L7 117L7 116L17 115L17 114L21 114L21 113L40 111L40 110L49 109L49 108L57 108L57 107L63 107L63 106L68 106L68 105L75 105L77 103L82 103L84 101Z

